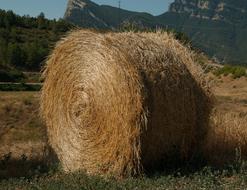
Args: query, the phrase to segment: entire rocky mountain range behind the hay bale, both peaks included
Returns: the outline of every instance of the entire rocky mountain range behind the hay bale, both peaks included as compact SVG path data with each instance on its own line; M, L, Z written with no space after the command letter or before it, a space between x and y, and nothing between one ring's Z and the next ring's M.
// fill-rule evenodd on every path
M81 27L117 29L126 23L171 28L220 62L247 64L247 0L174 0L159 16L69 0L64 18Z

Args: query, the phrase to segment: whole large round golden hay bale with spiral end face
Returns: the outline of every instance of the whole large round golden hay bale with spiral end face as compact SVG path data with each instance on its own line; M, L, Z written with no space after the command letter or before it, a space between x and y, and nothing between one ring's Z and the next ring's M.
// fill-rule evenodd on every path
M44 77L41 113L65 171L140 174L189 159L205 133L208 87L167 33L72 32Z

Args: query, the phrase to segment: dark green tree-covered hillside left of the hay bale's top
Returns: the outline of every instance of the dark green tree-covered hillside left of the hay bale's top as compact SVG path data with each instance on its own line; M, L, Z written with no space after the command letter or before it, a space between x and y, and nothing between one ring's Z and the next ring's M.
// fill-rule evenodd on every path
M0 81L16 82L20 71L40 71L50 49L72 27L64 20L18 16L0 10Z

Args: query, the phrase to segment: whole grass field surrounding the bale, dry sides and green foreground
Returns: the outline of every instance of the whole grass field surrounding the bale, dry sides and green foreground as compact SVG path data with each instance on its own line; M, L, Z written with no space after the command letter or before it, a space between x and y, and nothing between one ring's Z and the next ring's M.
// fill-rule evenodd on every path
M247 153L247 78L216 78L212 86L219 123L206 147L212 163L172 166L118 180L83 172L61 173L39 118L39 92L0 92L0 189L247 189L243 161ZM226 160L230 160L227 165Z

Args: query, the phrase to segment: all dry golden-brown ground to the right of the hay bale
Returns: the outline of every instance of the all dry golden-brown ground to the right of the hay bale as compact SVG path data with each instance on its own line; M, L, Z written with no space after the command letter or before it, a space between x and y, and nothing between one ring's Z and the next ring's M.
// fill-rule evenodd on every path
M213 77L215 111L203 144L204 158L214 166L247 160L247 78Z

